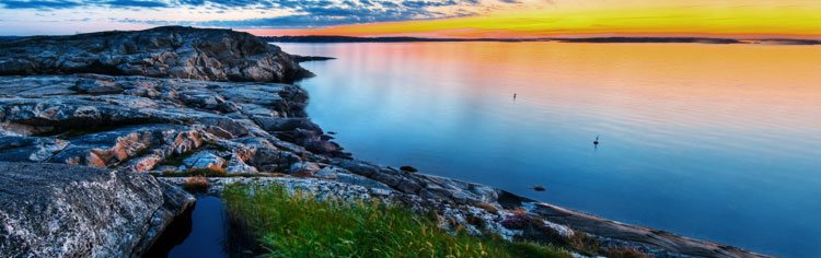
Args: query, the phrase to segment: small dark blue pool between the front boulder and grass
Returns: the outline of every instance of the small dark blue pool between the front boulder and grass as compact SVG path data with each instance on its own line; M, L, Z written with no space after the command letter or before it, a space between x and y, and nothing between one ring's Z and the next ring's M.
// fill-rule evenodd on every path
M213 196L197 196L194 210L177 218L144 257L220 258L229 257L224 203Z

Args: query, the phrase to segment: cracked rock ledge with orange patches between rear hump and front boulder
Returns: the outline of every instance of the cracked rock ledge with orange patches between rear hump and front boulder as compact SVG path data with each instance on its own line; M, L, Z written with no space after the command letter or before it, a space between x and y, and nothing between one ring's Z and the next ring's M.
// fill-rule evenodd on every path
M89 96L77 90L78 85L90 81L114 83L125 91ZM47 96L15 96L46 85L50 89L61 86L65 91ZM227 167L229 172L286 172L291 163L300 161L300 156L308 152L304 146L310 146L309 150L320 148L321 153L327 153L334 151L336 144L312 133L304 134L310 139L293 133L288 138L292 142L285 142L273 136L274 131L266 131L263 125L254 122L252 117L278 119L275 116L302 114L292 108L304 106L300 102L307 101L303 95L299 87L276 83L100 74L0 78L0 128L3 129L0 130L0 161L68 163L148 172L163 160L197 150L206 142L248 138L265 143L248 142L250 149L244 146L245 143L231 145L229 149L251 151L245 151L238 160L231 157ZM244 103L231 114L223 114L223 104L246 97L256 101ZM267 115L245 113L245 109L267 110ZM319 130L304 118L287 120L284 125ZM35 134L53 137L31 137ZM25 138L31 139L21 140ZM257 149L261 150L257 152Z

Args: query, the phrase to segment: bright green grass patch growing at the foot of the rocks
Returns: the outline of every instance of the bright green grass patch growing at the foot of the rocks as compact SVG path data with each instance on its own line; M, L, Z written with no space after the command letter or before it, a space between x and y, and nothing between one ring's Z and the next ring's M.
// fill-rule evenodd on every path
M317 201L280 186L229 186L229 219L264 257L570 257L557 247L476 237L380 201Z

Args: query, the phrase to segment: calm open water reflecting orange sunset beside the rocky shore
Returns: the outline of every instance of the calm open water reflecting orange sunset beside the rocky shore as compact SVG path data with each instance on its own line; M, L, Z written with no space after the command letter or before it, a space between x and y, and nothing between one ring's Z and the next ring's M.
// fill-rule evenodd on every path
M338 58L299 84L355 157L821 257L821 47L278 45Z

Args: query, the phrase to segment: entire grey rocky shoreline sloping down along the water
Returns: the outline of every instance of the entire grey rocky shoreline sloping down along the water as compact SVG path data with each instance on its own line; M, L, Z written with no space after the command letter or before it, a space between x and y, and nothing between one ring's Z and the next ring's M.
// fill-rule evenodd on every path
M0 42L0 161L10 162L0 163L0 186L9 186L0 187L0 216L14 221L0 227L0 254L139 256L171 223L167 214L193 202L172 185L207 174L217 195L227 184L278 184L320 197L378 198L437 211L443 227L475 234L545 242L583 232L602 245L655 257L763 257L351 159L307 116L308 94L282 84L310 77L298 63L307 60L321 58L290 56L229 30L159 27ZM127 186L92 191L103 175ZM124 196L140 189L146 194ZM39 191L59 195L27 200ZM69 201L81 195L112 197ZM109 202L124 206L105 216L81 212ZM61 209L46 209L50 216L32 213L42 207ZM141 213L119 215L129 209ZM160 213L165 215L154 215ZM89 218L100 226L53 218ZM134 225L118 226L124 221ZM111 228L94 231L108 241L77 237L90 228ZM134 237L113 237L122 234Z

